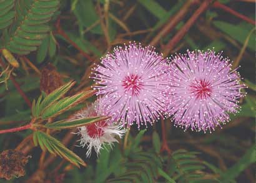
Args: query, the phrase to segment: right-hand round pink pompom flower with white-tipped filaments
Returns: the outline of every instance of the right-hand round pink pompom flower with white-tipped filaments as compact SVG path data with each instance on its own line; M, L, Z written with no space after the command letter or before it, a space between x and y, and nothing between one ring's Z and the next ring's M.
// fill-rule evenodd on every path
M204 132L230 120L239 111L240 75L230 60L214 51L175 55L170 64L169 113L176 126Z

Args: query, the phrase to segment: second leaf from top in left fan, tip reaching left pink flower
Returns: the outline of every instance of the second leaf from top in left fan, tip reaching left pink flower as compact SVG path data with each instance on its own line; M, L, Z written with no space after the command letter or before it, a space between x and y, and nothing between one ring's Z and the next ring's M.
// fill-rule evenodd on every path
M59 100L56 103L50 105L44 111L42 111L42 118L47 119L64 113L64 111L67 111L73 106L81 103L82 101L92 96L94 93L94 90L90 90L78 93L77 95L67 96L62 100Z

